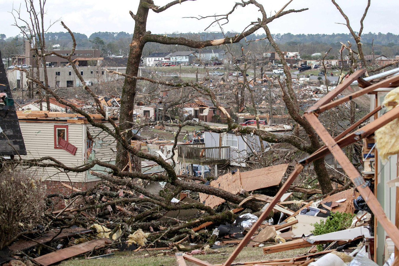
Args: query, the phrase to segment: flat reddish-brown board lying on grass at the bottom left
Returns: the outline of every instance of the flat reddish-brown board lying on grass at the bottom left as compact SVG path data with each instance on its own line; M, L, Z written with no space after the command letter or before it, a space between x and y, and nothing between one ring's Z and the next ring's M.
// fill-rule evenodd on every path
M40 263L43 266L47 266L60 262L62 260L66 260L67 258L72 258L73 256L89 252L93 250L93 248L102 248L103 246L105 246L106 244L110 244L111 242L112 241L108 238L98 238L95 240L63 248L51 253L47 253L43 256L34 258L34 261Z

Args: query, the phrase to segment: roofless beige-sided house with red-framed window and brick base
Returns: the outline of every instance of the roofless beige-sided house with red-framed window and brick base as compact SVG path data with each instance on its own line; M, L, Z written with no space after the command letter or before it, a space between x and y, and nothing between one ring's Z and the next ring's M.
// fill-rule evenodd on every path
M23 159L49 156L68 167L81 166L95 159L115 164L115 139L104 130L89 124L80 114L49 111L17 111L17 114L26 146L26 156L21 156ZM113 126L101 115L90 116L113 130ZM50 193L65 191L62 183L85 190L101 180L89 171L67 173L54 167L30 169L43 176ZM91 170L103 171L105 167L96 165Z

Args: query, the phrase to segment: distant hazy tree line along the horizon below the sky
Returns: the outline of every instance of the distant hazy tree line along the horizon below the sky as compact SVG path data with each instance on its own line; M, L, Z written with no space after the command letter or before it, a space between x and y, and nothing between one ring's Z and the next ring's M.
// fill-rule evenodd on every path
M226 35L234 34L235 32L226 32ZM77 42L77 49L100 49L103 56L119 55L127 56L129 52L129 44L132 40L132 34L126 32L95 32L89 37L82 33L75 33ZM223 33L219 32L199 32L199 33L167 33L170 37L185 37L196 41L206 39L221 39ZM348 33L333 33L333 34L272 34L276 43L280 45L283 51L297 51L300 52L303 59L318 59L313 56L314 53L324 54L330 47L332 50L328 59L339 59L339 50L341 43L348 41L354 42L352 36ZM245 40L239 43L228 45L229 50L235 55L241 55L241 47L244 47L244 53L252 51L253 53L262 54L268 51L274 51L271 48L269 41L264 39L265 34L249 35ZM48 49L71 49L72 41L67 32L48 32L45 33L46 45ZM258 40L258 41L255 41ZM386 55L393 57L399 55L399 35L393 33L363 33L361 35L363 43L363 52L372 54ZM13 54L21 54L24 52L24 39L22 35L6 37L0 34L0 50L5 59L10 58ZM373 43L373 47L371 45ZM216 48L216 47L215 47ZM222 47L220 47L222 48ZM154 52L175 52L189 50L188 47L182 45L166 45L160 43L146 43L143 55L149 55Z

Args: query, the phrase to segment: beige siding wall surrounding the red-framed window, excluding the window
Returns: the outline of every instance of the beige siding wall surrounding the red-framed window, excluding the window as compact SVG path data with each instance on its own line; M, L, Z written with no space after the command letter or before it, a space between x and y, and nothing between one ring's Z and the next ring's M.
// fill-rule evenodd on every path
M68 126L68 142L77 147L75 155L63 149L54 148L54 125ZM59 160L66 166L74 167L83 164L82 154L82 132L83 124L63 124L49 122L24 122L20 121L22 136L26 146L26 159L37 159L44 156L51 156ZM44 178L54 181L72 181L83 182L83 173L59 173L59 170L53 167L37 169L38 174Z

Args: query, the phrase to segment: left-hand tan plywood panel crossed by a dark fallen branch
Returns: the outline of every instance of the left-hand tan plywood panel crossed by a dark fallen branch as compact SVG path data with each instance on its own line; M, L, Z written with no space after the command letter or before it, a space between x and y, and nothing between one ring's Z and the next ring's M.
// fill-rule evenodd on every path
M240 171L237 170L234 174L231 172L220 176L216 180L211 181L212 187L223 189L227 192L237 194L242 189L240 180ZM205 193L199 193L199 202L209 206L211 208L225 202L224 199L216 197L214 195L207 195Z

